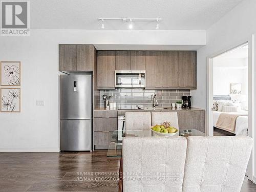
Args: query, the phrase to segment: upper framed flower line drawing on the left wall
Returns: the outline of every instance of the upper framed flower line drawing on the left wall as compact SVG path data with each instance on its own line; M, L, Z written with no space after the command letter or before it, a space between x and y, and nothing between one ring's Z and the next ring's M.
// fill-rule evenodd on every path
M1 61L1 86L20 86L20 62Z

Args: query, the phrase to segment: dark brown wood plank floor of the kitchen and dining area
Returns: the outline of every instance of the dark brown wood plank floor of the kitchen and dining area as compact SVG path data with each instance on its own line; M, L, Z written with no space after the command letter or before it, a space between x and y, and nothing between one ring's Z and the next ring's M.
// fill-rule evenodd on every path
M0 191L118 191L119 163L104 150L0 153ZM241 191L256 191L256 185L245 178Z

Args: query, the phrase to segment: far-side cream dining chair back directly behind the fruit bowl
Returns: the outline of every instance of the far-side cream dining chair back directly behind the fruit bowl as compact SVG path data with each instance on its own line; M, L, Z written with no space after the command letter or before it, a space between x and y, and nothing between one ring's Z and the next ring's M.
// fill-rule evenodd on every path
M179 130L178 114L177 112L152 112L152 126L169 121L172 126Z

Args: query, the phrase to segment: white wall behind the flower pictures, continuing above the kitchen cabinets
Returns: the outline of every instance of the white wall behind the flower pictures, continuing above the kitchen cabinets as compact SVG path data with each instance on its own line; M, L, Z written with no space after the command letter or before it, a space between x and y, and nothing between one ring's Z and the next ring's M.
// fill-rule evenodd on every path
M59 151L58 44L161 49L205 42L205 31L34 29L28 37L0 36L0 61L22 61L22 112L0 113L0 152ZM36 106L36 100L45 106Z

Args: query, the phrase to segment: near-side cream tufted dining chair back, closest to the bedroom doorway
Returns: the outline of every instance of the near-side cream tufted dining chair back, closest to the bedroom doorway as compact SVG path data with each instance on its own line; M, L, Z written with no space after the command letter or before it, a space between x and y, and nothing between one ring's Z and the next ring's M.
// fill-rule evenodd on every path
M247 136L187 137L182 192L239 192L251 148Z

